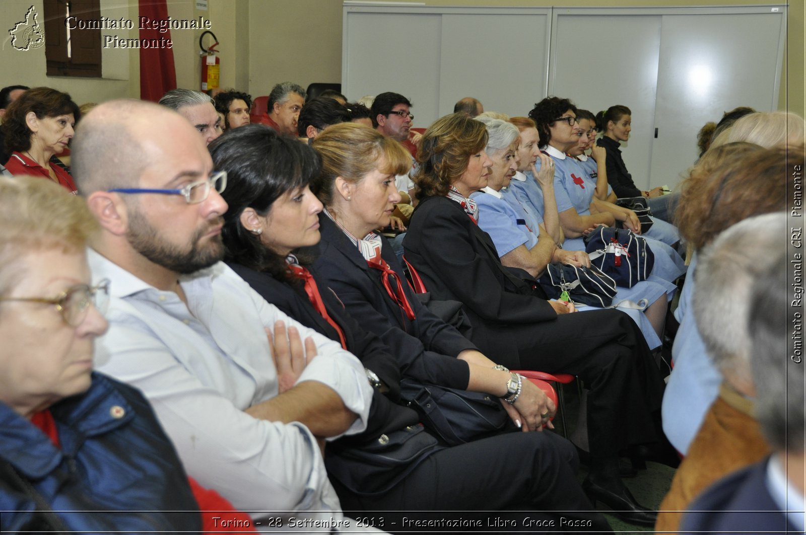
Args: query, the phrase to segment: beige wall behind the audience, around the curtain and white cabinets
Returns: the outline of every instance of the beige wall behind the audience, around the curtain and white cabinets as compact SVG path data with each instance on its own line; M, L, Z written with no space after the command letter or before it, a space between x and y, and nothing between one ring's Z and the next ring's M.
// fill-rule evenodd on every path
M247 90L252 96L268 94L272 85L294 81L303 87L312 82L338 82L342 73L342 0L208 0L209 9L197 10L194 0L168 2L175 19L210 19L220 41L221 86ZM493 0L425 0L426 4L488 6ZM137 2L127 7L117 0L101 0L102 15L137 18ZM503 2L501 2L503 3ZM601 6L601 0L505 0L508 6ZM776 4L775 0L618 0L620 6L696 6ZM139 97L139 54L136 50L103 51L103 78L46 77L44 48L27 52L10 47L7 30L22 19L33 4L42 13L42 0L2 0L0 27L0 86L51 85L73 95L76 102L99 102L114 97ZM40 15L41 17L42 15ZM12 22L8 22L12 21ZM40 23L43 21L40 20ZM6 26L8 28L6 28ZM806 114L804 96L804 2L789 7L787 49L781 77L779 107ZM400 31L400 30L396 30ZM405 29L402 29L405 31ZM104 31L104 34L137 37L138 31ZM177 85L199 89L201 59L198 38L202 31L174 30ZM412 39L416 39L412 35Z

